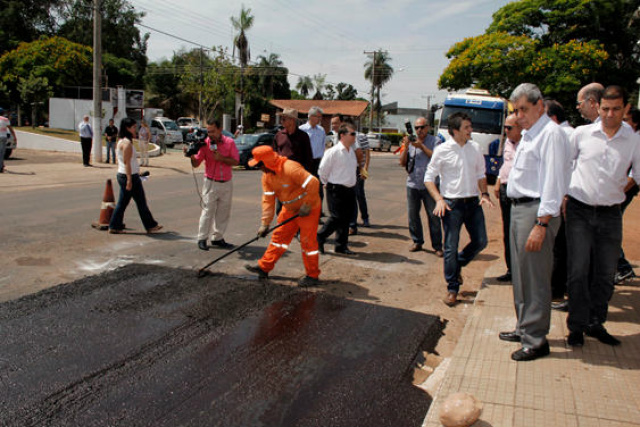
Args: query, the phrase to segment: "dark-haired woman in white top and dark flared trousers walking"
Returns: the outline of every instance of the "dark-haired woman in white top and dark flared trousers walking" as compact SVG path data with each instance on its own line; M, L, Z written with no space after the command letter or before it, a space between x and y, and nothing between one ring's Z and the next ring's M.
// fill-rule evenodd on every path
M124 211L132 198L136 202L140 219L147 233L155 233L162 229L162 226L158 225L158 222L153 219L147 206L147 199L140 180L140 165L136 149L132 143L135 136L136 121L128 117L122 119L120 132L118 133L120 139L116 147L116 156L118 157L118 174L116 178L118 184L120 184L120 196L109 223L109 233L111 234L124 233L124 224L122 223Z

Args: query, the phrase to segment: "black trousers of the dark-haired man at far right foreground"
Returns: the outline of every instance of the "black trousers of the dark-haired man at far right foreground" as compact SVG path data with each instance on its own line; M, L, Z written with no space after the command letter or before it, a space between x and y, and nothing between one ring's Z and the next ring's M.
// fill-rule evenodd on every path
M567 326L572 332L583 332L588 325L607 320L622 243L620 206L593 207L570 197L566 229L571 254Z

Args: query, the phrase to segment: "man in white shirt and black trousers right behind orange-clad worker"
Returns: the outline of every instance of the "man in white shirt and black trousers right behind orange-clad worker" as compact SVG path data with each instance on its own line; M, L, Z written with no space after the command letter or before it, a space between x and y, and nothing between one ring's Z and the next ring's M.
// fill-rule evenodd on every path
M353 255L349 250L349 221L356 203L356 169L358 160L353 145L356 142L356 128L344 123L338 130L340 141L328 149L318 168L320 182L325 185L329 219L318 232L318 248L324 253L324 243L336 232L334 251L345 255Z

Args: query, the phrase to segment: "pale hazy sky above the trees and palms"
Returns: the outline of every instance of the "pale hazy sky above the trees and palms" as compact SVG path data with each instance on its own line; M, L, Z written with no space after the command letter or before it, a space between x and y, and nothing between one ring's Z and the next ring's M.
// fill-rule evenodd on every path
M364 52L386 50L395 73L382 102L426 108L442 102L438 78L445 54L456 42L482 34L507 0L129 0L144 12L140 30L150 34L147 56L170 59L180 49L223 46L232 52L231 16L251 9L246 33L251 61L276 53L289 69L292 89L299 76L326 74L326 82L352 84L369 99Z

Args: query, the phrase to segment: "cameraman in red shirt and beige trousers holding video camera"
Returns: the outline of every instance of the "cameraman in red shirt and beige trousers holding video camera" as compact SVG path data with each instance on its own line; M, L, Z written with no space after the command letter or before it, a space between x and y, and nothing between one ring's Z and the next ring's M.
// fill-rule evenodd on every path
M207 125L207 135L204 141L200 141L197 154L184 148L185 156L191 158L191 166L197 168L203 161L205 164L198 248L209 250L207 238L211 234L212 246L230 249L233 245L224 241L224 232L231 214L231 169L239 163L240 157L233 139L222 135L219 120L213 120Z

